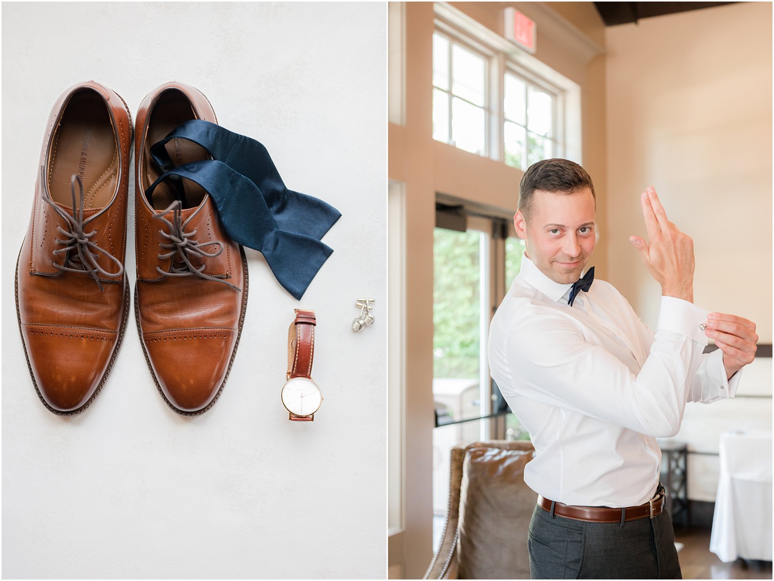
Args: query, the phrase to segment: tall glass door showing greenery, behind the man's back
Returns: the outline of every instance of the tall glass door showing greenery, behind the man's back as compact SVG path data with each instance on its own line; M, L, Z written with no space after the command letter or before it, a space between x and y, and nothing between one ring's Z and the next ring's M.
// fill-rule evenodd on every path
M439 198L441 196L439 195ZM443 531L450 450L463 441L524 439L489 376L493 307L519 273L524 244L513 222L442 198L433 231L433 547ZM447 203L451 202L451 203Z

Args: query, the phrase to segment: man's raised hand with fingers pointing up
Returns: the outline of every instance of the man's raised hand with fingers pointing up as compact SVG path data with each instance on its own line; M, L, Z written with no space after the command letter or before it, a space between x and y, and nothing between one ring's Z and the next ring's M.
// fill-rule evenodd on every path
M664 207L652 186L642 192L642 215L648 242L630 236L642 261L661 285L663 296L694 302L694 241L666 219Z

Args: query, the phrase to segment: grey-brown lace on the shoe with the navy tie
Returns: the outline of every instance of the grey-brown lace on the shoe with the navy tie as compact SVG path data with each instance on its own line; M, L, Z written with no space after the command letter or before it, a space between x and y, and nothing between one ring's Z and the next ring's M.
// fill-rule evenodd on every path
M170 214L170 212L172 213L172 220L167 220L164 216L166 214ZM222 284L230 286L232 289L241 292L241 289L238 286L232 285L231 282L204 274L205 265L201 265L199 268L196 268L193 264L191 264L189 258L190 256L197 256L200 258L215 258L216 256L221 255L224 249L224 245L221 241L218 240L204 242L204 244L194 240L193 237L197 233L197 228L194 228L194 231L191 232L183 231L182 203L180 203L180 200L175 200L170 204L169 207L166 208L166 210L162 210L159 212L159 214L154 214L153 217L156 218L156 220L161 220L164 224L166 224L166 227L169 228L169 234L163 230L159 230L161 235L169 241L166 243L159 242L159 246L161 248L169 250L169 252L157 255L159 260L166 260L166 258L172 258L174 255L177 255L183 261L183 265L180 265L180 262L178 262L177 264L180 265L178 266L173 260L172 267L168 272L163 271L161 268L159 268L159 266L156 266L156 271L158 271L159 274L165 277L194 275L198 276L200 279L221 282ZM217 251L207 252L203 249L207 246L217 246L218 248Z

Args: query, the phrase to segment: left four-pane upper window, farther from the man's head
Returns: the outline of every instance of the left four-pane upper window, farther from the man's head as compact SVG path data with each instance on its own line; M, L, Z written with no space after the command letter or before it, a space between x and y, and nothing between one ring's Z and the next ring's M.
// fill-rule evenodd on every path
M486 59L433 34L433 139L486 155Z

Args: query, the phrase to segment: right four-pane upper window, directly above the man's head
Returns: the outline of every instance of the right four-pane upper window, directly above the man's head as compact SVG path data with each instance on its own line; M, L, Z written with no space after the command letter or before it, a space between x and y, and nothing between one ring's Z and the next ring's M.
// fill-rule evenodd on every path
M556 98L514 73L505 73L502 128L505 163L522 171L541 159L558 155Z

